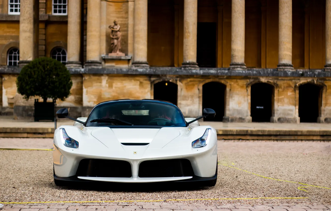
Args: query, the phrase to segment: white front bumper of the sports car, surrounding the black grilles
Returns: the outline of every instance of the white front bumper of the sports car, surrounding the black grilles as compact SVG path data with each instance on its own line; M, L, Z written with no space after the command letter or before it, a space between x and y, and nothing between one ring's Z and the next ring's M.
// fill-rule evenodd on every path
M143 146L144 147L144 146ZM207 150L197 151L196 153L169 153L168 156L156 156L156 157L142 157L140 159L129 159L129 158L118 158L118 157L110 157L110 156L102 156L102 155L88 155L88 154L76 154L72 152L65 151L55 146L53 158L54 158L54 170L55 176L59 178L71 178L77 176L82 176L80 180L95 180L96 178L89 178L88 175L77 175L77 170L79 163L82 159L103 159L103 160L122 160L130 163L129 168L131 168L131 172L129 176L125 178L122 176L108 176L108 179L101 179L102 175L98 175L98 181L109 181L109 182L123 182L123 183L144 183L144 182L166 182L173 180L191 180L195 176L196 178L212 178L215 175L216 163L217 163L217 153L215 153L217 146L213 146ZM172 148L173 150L173 148ZM100 153L102 154L102 153ZM149 177L141 177L139 174L140 165L144 161L150 160L168 160L168 159L187 159L189 160L193 174L191 175L180 175L173 177L164 177L162 175L159 176L149 176ZM111 165L104 165L105 168L110 168ZM162 165L160 165L162 166ZM155 167L155 166L154 166ZM116 170L119 168L115 168ZM182 178L183 176L193 176L192 178ZM122 179L119 179L122 178ZM78 179L78 178L77 178ZM194 179L193 179L194 180ZM198 179L201 180L201 179Z

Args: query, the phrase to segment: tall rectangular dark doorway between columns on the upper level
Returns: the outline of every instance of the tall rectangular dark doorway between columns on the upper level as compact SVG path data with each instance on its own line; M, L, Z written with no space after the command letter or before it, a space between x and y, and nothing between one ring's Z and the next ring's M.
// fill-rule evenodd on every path
M216 23L198 22L197 63L199 67L216 67Z

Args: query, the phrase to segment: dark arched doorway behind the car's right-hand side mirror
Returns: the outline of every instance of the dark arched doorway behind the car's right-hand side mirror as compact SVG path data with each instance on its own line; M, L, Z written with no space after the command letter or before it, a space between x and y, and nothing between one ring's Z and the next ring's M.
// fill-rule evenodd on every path
M225 109L226 86L219 82L209 82L202 86L202 110L212 108L214 118L204 117L204 121L223 121Z

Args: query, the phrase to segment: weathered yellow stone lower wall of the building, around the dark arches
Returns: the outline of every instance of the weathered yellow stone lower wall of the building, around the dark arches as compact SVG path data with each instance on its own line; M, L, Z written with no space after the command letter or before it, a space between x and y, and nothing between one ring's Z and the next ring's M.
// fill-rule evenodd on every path
M130 68L71 68L71 96L58 107L70 107L73 116L87 116L97 103L111 99L152 99L153 84L162 80L178 85L178 106L185 116L202 114L202 85L216 81L226 85L226 106L223 121L250 122L250 87L269 83L275 87L272 122L299 122L298 85L314 83L323 87L323 103L319 122L331 122L331 72L323 70L278 71L277 69L229 70L201 68L183 70L171 67ZM13 84L19 69L0 68L3 75L3 102L15 101L19 118L33 115L33 99L25 101L16 94ZM11 73L11 74L5 74ZM8 82L7 82L8 81ZM218 91L215 90L215 98ZM263 97L263 96L261 96ZM6 99L7 98L7 99ZM22 113L22 114L20 114ZM25 113L25 114L23 114ZM22 116L22 117L21 117Z

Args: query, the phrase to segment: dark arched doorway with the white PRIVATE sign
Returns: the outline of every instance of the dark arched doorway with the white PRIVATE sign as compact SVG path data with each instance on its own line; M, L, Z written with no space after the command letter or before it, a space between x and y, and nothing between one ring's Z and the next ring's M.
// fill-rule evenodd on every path
M256 83L251 86L252 122L270 122L274 103L274 86Z

